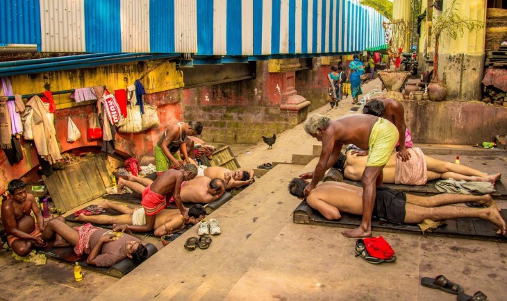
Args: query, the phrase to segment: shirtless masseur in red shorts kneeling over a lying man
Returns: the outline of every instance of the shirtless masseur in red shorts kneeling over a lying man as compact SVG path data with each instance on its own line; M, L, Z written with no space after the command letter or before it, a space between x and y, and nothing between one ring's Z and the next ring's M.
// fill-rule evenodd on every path
M183 183L197 175L197 166L187 163L183 167L183 171L169 169L165 173L158 175L156 180L140 178L142 181L147 180L146 184L138 184L139 187L129 187L126 185L127 180L120 178L118 180L117 189L122 191L123 187L129 187L133 191L142 195L141 205L144 207L144 216L146 223L144 225L131 225L129 229L133 232L150 232L155 225L155 216L167 205L167 198L171 198L169 202L174 201L181 215L188 221L188 209L181 203L180 191ZM139 177L137 177L139 178ZM113 229L114 230L114 229Z

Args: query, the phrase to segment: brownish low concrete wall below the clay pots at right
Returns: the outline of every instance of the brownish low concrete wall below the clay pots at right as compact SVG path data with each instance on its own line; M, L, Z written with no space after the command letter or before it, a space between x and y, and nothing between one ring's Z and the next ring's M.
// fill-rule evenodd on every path
M507 107L463 101L402 102L415 143L474 145L507 134Z

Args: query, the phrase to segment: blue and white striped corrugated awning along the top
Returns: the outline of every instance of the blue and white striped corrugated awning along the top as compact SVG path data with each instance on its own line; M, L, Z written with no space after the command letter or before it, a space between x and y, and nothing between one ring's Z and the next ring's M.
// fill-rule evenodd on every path
M0 0L0 43L40 51L294 55L385 44L356 0Z

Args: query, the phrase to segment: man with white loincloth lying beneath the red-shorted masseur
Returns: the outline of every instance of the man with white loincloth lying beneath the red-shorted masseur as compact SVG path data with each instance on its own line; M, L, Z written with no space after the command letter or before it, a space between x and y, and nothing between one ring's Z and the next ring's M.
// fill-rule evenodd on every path
M126 207L121 204L109 203L107 200L104 200L99 207L104 209L113 209L117 212L122 213L122 215L106 215L106 214L98 214L98 215L85 215L79 214L76 218L78 221L85 221L88 223L94 223L99 225L144 225L146 224L146 219L144 216L144 208L138 207L137 209ZM168 210L163 209L155 216L155 232L156 236L162 236L165 234L176 233L179 230L183 229L185 225L195 225L201 221L201 219L206 216L206 209L202 207L202 205L194 205L188 209L188 216L190 218L188 221L185 221L181 212L175 211L174 209Z

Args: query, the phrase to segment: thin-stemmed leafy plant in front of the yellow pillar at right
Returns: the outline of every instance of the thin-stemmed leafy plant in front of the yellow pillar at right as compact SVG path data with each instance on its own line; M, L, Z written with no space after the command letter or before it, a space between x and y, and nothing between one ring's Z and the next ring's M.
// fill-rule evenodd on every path
M463 37L465 28L468 31L476 31L484 27L484 22L461 17L459 15L459 7L458 1L453 0L451 6L442 12L442 15L438 16L435 22L433 22L432 31L435 42L433 53L433 80L438 80L438 47L440 46L440 38L442 35L456 40L458 35Z

